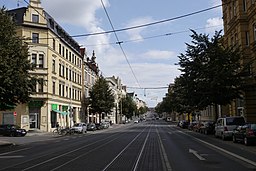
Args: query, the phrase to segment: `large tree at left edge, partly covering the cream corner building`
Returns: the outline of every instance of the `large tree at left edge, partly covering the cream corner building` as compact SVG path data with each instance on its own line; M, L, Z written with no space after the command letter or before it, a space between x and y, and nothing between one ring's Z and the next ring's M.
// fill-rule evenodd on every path
M5 8L0 9L0 110L27 103L38 81L29 74L28 47L15 33L16 26Z

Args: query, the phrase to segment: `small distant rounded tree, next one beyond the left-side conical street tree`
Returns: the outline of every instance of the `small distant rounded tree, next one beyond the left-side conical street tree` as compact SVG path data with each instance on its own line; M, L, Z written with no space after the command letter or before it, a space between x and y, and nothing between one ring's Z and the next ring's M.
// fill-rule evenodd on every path
M121 100L122 103L122 114L127 118L132 118L133 114L137 110L137 106L135 102L132 100L132 97L126 96Z

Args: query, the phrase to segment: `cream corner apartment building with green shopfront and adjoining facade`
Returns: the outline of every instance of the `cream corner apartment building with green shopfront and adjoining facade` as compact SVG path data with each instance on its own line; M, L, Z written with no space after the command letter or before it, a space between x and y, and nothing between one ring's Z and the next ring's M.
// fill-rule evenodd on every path
M30 73L42 81L36 85L28 104L0 112L1 123L14 123L27 130L52 131L57 122L63 127L80 122L82 94L88 95L98 74L95 58L86 57L85 49L81 50L44 11L40 0L30 0L28 7L8 12L18 24L17 34L28 44L29 60L36 66Z

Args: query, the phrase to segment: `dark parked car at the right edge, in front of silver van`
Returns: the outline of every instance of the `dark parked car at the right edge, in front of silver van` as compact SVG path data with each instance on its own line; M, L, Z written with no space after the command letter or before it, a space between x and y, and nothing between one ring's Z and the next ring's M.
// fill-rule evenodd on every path
M256 123L236 127L233 130L233 142L238 141L245 145L256 143Z

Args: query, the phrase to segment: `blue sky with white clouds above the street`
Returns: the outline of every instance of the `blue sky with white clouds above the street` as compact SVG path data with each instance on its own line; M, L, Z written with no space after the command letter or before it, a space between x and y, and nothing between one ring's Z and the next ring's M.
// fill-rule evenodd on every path
M0 0L7 9L29 0ZM180 75L177 65L190 29L211 36L223 29L221 0L41 0L42 7L92 56L104 77L119 77L148 107L155 107ZM203 11L203 12L199 12ZM146 25L146 26L143 26ZM134 26L138 28L131 29ZM117 43L120 42L120 43Z

